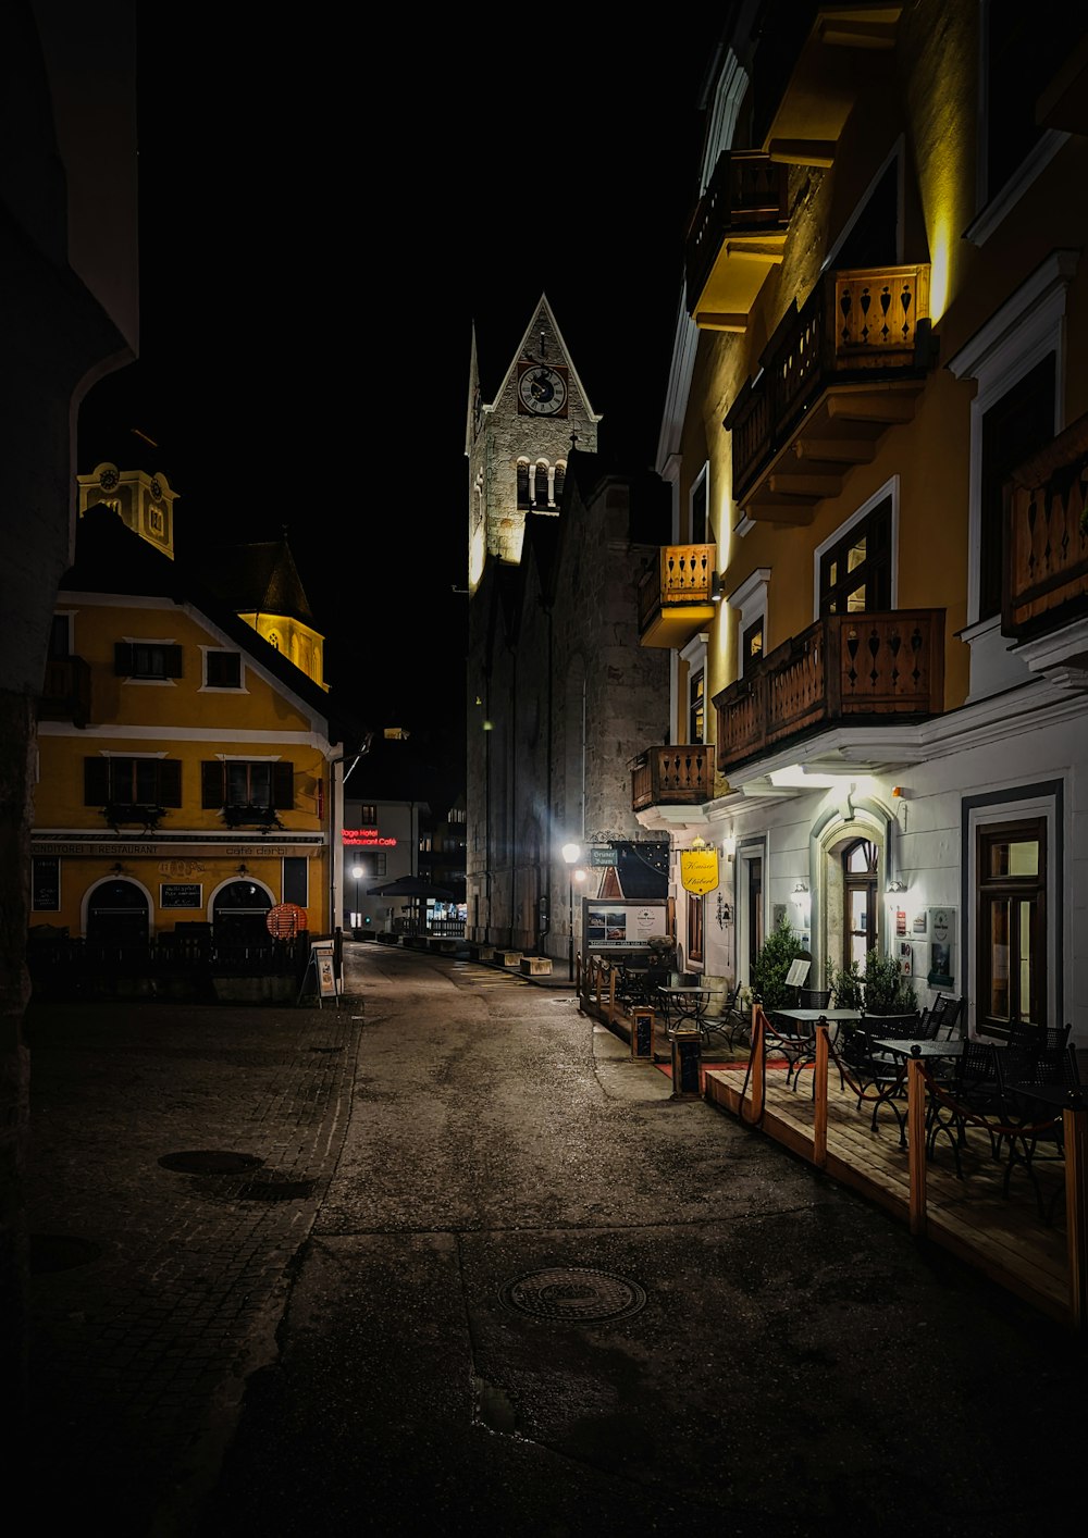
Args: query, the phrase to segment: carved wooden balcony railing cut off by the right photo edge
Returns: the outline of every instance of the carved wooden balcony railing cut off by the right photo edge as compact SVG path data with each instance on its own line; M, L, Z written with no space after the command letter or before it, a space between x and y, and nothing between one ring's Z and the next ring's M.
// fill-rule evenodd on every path
M1036 637L1088 612L1088 414L1005 486L1002 629Z

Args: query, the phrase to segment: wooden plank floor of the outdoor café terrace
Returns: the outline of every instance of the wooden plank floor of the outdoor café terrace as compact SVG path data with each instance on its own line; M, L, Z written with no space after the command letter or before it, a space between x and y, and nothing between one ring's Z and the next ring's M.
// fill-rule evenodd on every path
M751 1086L740 1107L746 1063L706 1069L706 1100L751 1120ZM799 1090L776 1072L766 1075L762 1130L802 1158L813 1160L811 1080ZM909 1223L909 1177L906 1149L900 1147L899 1124L882 1107L871 1129L873 1104L857 1109L857 1095L840 1090L837 1077L828 1084L828 1140L825 1172L843 1186ZM990 1280L1043 1313L1071 1323L1070 1264L1063 1213L1056 1223L1042 1221L1031 1181L1022 1169L1013 1175L1008 1198L1002 1190L1005 1164L990 1155L982 1129L971 1129L962 1155L963 1178L956 1175L953 1150L943 1140L926 1167L925 1238L983 1272ZM1040 1166L1042 1167L1042 1166ZM1053 1189L1056 1175L1040 1180Z

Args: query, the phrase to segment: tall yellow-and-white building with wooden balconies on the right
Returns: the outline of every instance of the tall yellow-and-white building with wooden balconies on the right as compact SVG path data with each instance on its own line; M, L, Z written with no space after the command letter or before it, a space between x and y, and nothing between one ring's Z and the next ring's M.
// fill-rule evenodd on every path
M731 18L639 592L672 654L686 964L869 950L970 1027L1088 1041L1088 38L1076 8ZM679 744L679 746L677 746ZM714 891L682 852L716 851Z

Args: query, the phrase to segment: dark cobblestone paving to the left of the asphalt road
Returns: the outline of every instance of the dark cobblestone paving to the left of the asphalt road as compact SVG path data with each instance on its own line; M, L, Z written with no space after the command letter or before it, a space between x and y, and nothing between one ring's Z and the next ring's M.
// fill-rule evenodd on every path
M32 1004L25 1463L45 1530L162 1530L214 1469L335 1169L360 1007Z

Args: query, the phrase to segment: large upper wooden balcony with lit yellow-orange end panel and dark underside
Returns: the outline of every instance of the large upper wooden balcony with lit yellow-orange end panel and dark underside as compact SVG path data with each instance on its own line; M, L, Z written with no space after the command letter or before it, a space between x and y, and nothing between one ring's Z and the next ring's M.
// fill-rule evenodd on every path
M825 272L725 417L737 504L809 523L888 428L911 420L934 361L928 265Z

